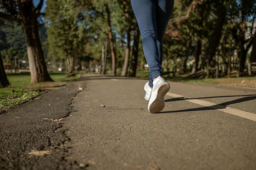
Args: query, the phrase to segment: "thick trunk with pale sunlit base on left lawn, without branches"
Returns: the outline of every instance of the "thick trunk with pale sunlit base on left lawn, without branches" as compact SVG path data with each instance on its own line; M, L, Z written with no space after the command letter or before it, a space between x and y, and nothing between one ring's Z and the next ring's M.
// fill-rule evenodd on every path
M31 74L31 83L53 81L44 62L44 54L39 39L37 16L34 14L32 1L21 3L18 1L21 26L25 35L28 52L28 62Z

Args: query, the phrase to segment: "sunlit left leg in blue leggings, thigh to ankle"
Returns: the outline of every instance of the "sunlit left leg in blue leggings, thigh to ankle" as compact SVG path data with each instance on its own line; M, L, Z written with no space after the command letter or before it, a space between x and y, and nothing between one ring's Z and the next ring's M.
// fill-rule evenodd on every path
M131 0L131 4L140 28L143 51L150 70L149 86L153 87L153 79L161 75L156 44L156 2L155 0Z

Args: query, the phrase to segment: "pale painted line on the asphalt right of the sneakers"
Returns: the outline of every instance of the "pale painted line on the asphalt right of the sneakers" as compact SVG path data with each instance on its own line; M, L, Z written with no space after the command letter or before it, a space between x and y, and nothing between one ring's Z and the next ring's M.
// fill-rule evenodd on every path
M189 97L185 97L185 96L181 96L179 94L174 94L174 93L167 93L167 96L170 97L174 97L174 98L181 98L182 100L186 100L189 101L191 103L195 103L204 107L210 107L212 109L216 109L216 110L220 110L222 112L231 114L231 115L236 115L239 117L243 117L252 121L256 121L256 114L250 113L250 112L245 112L243 110L238 110L235 108L231 108L231 107L226 107L226 106L222 106L222 105L218 105L216 103L212 103L209 101L204 101L204 100L198 100L198 99L191 99Z

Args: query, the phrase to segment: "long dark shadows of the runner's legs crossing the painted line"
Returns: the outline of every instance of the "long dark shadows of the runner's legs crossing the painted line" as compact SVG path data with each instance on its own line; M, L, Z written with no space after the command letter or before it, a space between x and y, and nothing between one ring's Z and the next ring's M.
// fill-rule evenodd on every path
M184 110L165 111L165 112L159 112L159 113L177 113L177 112L192 112L192 111L224 109L228 105L231 105L231 104L236 104L236 103L241 103L241 102L244 102L244 101L250 101L250 100L255 100L256 99L256 95L243 95L243 96L246 96L246 97L241 98L241 99L228 101L228 102L224 102L224 103L220 103L220 104L216 104L216 105L213 105L213 106L210 106L210 107L198 107L198 108L191 108L191 109L184 109ZM217 96L217 97L236 97L236 96ZM208 98L215 98L215 97L208 97ZM189 100L189 99L185 99L185 98L183 98L183 99L182 98L174 98L174 99ZM206 98L194 98L194 99L206 99ZM174 100L174 101L177 101L177 100Z

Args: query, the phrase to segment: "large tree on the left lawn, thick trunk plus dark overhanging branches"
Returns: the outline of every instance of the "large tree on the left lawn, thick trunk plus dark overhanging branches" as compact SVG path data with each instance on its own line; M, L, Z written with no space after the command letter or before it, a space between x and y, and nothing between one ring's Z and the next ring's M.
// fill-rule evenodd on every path
M37 7L32 0L2 0L0 18L21 24L27 45L31 83L52 81L44 62L42 45L38 34L37 18L43 6L40 0Z

